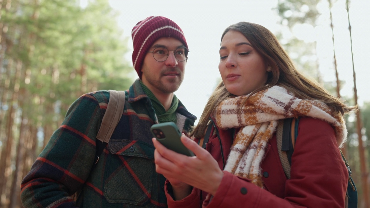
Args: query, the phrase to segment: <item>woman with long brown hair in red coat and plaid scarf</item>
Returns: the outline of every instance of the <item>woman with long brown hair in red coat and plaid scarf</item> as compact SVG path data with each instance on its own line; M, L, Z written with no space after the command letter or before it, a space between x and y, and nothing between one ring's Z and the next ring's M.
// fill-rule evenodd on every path
M181 137L196 157L153 140L168 207L344 207L348 171L338 147L347 137L343 115L355 107L302 76L258 24L226 28L219 53L222 83L192 132L195 141ZM287 180L276 127L292 117L300 121ZM196 142L208 125L204 150Z

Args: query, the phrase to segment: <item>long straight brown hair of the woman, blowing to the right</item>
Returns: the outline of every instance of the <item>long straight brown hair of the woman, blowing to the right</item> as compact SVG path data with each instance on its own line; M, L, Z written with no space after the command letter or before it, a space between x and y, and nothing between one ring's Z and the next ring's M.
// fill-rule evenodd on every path
M279 85L290 90L297 98L322 101L326 103L332 111L342 115L349 113L351 110L356 110L357 107L348 107L340 98L331 95L316 81L306 78L297 71L293 61L280 45L275 35L267 28L255 23L239 22L225 29L221 36L221 41L223 36L231 30L242 33L272 69L268 73L266 85L254 90L249 96L274 85ZM229 93L225 85L220 83L209 98L199 119L199 123L194 128L191 135L194 135L196 138L204 137L209 116L221 101L229 97L235 97L235 95Z

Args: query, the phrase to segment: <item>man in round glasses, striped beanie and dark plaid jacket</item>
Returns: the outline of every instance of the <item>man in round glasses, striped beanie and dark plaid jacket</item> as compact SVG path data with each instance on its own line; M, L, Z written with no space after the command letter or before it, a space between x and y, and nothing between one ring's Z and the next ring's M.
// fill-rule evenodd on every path
M186 134L194 125L196 117L173 94L184 78L188 46L181 28L159 16L140 21L132 41L139 79L125 92L124 113L96 167L96 137L108 91L85 94L71 105L22 181L24 207L167 206L149 129L173 121ZM79 190L74 202L70 196Z

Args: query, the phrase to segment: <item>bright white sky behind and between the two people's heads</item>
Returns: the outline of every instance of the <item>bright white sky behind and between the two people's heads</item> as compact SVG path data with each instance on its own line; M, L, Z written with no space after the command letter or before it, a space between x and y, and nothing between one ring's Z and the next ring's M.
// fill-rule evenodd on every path
M332 0L334 1L334 0ZM83 0L81 0L81 4ZM201 0L110 0L111 6L118 10L118 24L129 37L130 51L126 54L131 62L132 38L131 30L138 21L148 16L165 16L175 21L184 31L189 46L189 59L186 64L184 82L175 92L185 107L198 118L211 95L219 76L219 47L221 34L226 27L239 21L249 21L265 26L273 33L283 31L289 36L289 30L278 24L279 17L272 8L277 0L249 1L201 1ZM339 78L345 80L341 94L353 97L353 73L350 53L345 0L338 0L333 6L334 38ZM354 66L356 70L357 94L359 103L370 101L369 90L369 52L370 41L365 39L370 33L369 0L352 0L350 20L352 26ZM300 26L293 30L294 35L307 41L317 41L320 71L323 79L335 79L333 66L333 43L330 29L329 9L326 0L322 0L318 9L322 13L319 26L314 30ZM134 73L134 77L137 77Z

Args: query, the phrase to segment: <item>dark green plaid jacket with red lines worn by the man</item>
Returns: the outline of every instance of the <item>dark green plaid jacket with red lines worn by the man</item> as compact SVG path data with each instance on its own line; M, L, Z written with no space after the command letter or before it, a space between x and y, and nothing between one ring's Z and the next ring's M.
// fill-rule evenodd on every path
M155 172L149 131L155 111L138 80L126 91L124 113L97 166L95 140L108 91L82 95L70 107L21 184L25 208L167 207L165 178ZM196 117L179 102L177 125L186 134ZM81 190L76 202L70 197Z

